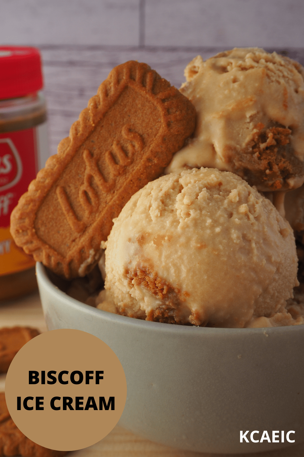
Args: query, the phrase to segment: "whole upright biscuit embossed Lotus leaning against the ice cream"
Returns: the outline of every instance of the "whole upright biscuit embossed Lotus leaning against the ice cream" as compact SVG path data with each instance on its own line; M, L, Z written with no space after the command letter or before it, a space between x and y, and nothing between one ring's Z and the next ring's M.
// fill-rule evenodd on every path
M147 64L115 67L13 210L15 243L61 276L84 276L113 218L162 173L195 117L191 102Z

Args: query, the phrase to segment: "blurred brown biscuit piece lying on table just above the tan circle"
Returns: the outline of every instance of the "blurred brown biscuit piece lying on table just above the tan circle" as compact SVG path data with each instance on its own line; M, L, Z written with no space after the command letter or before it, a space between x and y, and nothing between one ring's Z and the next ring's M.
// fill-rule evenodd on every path
M35 336L38 330L30 327L0 329L0 373L6 373L19 349Z

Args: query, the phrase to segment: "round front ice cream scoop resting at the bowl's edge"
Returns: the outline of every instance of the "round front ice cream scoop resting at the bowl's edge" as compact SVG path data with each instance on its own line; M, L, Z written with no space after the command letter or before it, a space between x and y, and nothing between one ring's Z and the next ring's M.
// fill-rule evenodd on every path
M244 327L298 285L293 231L239 176L211 168L149 182L114 220L103 297L119 314Z

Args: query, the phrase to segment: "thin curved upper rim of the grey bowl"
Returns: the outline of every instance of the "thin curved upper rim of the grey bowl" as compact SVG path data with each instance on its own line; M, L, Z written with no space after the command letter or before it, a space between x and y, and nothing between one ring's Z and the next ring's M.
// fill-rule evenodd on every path
M128 327L138 328L138 329L155 329L162 332L174 333L176 335L188 334L193 335L193 329L195 329L196 335L273 335L273 334L289 334L290 332L304 333L304 324L299 325L286 325L282 327L262 327L262 328L225 328L225 327L196 327L195 325L174 325L167 324L163 322L151 322L142 319L135 319L128 316L121 316L120 314L113 314L108 311L103 311L102 309L94 308L93 306L82 303L76 298L72 298L67 293L62 292L57 286L55 286L52 281L48 278L46 274L45 266L41 262L36 262L36 276L39 281L43 283L46 291L50 295L57 296L57 299L62 302L62 300L68 304L71 308L81 312L87 312L93 318L103 317L109 323L120 323L127 325ZM91 319L90 319L91 320Z

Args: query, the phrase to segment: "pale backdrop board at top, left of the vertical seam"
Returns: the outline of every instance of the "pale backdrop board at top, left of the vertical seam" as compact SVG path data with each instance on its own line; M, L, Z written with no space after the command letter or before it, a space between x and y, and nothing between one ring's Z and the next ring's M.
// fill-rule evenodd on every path
M2 43L137 45L138 0L0 0Z

